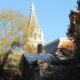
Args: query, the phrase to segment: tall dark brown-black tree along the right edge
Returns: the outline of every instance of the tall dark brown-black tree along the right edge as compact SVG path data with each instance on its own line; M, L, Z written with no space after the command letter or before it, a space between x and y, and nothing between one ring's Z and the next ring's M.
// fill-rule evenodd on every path
M71 11L70 26L68 28L67 36L74 39L76 57L80 57L80 0L77 1L77 11Z

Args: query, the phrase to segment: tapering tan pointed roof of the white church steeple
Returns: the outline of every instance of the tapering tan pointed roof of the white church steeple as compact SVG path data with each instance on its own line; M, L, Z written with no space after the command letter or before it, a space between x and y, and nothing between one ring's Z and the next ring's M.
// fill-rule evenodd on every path
M35 15L35 6L32 3L30 18L29 18L29 26L28 26L28 28L29 28L29 36L34 31L35 27L37 27L39 29L39 25L38 25L37 18L36 18L36 15Z

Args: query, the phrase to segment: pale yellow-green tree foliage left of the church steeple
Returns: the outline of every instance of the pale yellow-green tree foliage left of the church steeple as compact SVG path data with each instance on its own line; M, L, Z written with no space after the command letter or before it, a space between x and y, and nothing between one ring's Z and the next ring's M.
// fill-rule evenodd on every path
M20 12L0 12L0 47L7 51L13 42L27 41L28 18ZM26 40L25 40L26 39Z

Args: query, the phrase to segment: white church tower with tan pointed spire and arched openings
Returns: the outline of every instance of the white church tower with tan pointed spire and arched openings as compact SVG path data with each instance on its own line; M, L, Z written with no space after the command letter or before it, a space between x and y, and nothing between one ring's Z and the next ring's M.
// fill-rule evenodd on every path
M28 24L28 38L30 45L34 46L37 46L38 44L44 45L43 32L38 25L37 18L35 15L35 6L33 3L31 5L31 13Z

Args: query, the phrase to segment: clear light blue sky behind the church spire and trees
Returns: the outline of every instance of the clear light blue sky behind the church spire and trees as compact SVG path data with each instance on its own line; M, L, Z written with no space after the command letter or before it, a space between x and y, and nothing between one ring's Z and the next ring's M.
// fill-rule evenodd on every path
M77 9L77 0L0 0L0 11L19 11L30 16L30 6L35 5L36 16L43 30L45 42L66 37L71 10Z

